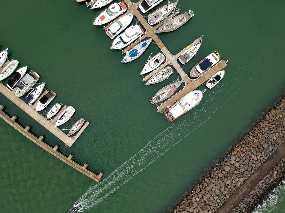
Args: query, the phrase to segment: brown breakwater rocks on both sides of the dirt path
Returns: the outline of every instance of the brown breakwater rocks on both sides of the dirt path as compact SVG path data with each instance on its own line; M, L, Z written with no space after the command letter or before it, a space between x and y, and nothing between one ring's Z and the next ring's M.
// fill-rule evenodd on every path
M215 212L227 198L260 166L285 140L285 99L269 109L255 126L212 166L192 193L182 198L173 213ZM231 212L247 212L264 197L264 191L274 187L284 172L282 161L258 183Z

